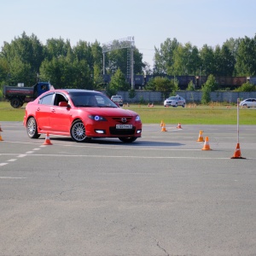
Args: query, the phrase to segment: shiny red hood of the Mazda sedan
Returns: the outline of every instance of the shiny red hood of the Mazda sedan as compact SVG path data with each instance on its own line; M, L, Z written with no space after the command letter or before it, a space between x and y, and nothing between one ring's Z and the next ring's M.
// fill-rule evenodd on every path
M85 108L86 109L86 108ZM86 109L87 113L102 116L136 116L136 112L123 108L90 108Z

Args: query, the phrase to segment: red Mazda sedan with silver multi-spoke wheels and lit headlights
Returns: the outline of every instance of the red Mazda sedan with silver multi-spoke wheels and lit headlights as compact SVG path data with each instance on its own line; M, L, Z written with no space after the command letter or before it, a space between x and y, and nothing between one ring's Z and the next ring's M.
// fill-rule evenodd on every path
M140 116L119 108L95 90L49 90L26 105L23 124L28 137L41 133L70 136L83 143L91 138L118 137L132 143L142 136Z

